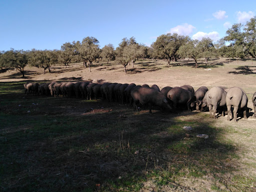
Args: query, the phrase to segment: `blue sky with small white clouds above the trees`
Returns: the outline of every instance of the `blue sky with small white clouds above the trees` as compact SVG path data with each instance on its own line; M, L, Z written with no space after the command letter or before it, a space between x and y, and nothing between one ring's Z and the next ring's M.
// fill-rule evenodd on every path
M60 49L86 36L100 48L131 36L150 45L167 32L217 40L255 15L255 0L0 0L0 50Z

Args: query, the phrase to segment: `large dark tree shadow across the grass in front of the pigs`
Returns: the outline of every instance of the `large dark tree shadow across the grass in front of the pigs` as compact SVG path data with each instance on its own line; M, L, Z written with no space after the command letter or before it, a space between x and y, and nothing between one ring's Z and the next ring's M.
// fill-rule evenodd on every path
M11 90L23 90L21 83L11 83ZM0 90L7 84L0 83ZM11 106L1 107L5 114L1 127L6 129L1 135L11 138L3 140L7 143L0 149L6 191L27 187L97 190L97 184L102 191L117 190L154 174L163 176L161 170L169 172L168 180L186 169L204 176L207 171L231 172L237 165L226 161L236 148L219 139L223 130L214 126L214 119L198 117L200 112L161 113L153 108L150 115L148 110L133 112L118 102L25 96L11 91L0 98L14 99ZM15 121L10 120L13 117ZM183 129L189 125L192 130ZM209 138L196 137L202 133ZM12 164L6 163L12 158ZM10 168L15 166L18 168ZM36 177L30 176L35 173ZM11 175L20 178L15 185L10 184Z

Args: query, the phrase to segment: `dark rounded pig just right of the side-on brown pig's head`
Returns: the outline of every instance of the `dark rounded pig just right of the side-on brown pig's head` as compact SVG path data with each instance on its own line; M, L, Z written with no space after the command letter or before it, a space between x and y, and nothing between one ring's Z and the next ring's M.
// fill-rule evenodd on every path
M181 87L173 87L168 91L167 99L169 99L172 108L182 107L185 105L187 110L190 111L190 105L191 103L194 103L196 97L189 90Z

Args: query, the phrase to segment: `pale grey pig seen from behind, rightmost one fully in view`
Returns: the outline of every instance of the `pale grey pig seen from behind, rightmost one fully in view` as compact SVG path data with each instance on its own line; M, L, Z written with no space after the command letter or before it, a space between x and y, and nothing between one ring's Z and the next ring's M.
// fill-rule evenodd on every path
M243 111L243 118L247 119L248 97L240 87L231 87L226 93L227 120L232 118L231 106L233 106L233 120L237 122L237 110Z

